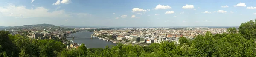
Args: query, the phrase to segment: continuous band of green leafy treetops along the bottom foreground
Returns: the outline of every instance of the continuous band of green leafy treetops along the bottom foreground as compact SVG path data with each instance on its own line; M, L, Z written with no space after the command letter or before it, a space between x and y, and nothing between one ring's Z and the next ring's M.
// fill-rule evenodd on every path
M256 22L256 21L255 21ZM8 35L0 31L1 57L256 57L256 24L242 23L239 31L227 29L228 33L196 36L194 40L181 37L176 42L152 43L149 46L123 45L117 43L109 48L66 50L66 45L56 40L31 40L20 35Z

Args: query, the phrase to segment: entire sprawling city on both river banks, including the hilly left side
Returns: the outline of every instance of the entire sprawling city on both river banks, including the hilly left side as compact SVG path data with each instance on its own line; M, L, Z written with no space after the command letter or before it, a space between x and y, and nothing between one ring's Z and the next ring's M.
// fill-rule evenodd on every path
M79 31L93 32L93 38L99 38L113 43L148 46L151 43L174 41L179 44L180 37L193 39L198 35L227 33L227 28L182 27L182 28L64 28L50 24L25 25L5 29L10 34L20 34L31 39L55 39L67 45L67 48L78 48L82 43L67 40L66 37ZM15 30L16 29L16 30ZM65 30L63 30L65 29ZM69 30L67 30L69 29ZM90 30L90 31L89 31ZM93 31L92 31L93 30Z

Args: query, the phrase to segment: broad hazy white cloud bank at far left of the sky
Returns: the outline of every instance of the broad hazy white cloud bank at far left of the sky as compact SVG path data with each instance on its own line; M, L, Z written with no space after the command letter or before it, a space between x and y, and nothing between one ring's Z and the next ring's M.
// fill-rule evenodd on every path
M10 4L9 6L0 7L0 14L2 16L10 16L10 13L13 13L10 17L20 17L20 14L24 18L31 17L71 17L69 14L65 12L65 10L58 11L49 11L49 9L45 9L44 7L35 7L35 9L26 9L25 6L15 6Z

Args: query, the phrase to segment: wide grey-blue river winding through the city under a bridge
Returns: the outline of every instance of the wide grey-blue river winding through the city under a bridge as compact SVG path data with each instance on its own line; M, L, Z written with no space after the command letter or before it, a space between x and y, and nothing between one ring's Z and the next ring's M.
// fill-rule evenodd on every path
M111 48L111 46L116 46L116 43L100 40L97 37L93 37L91 39L90 38L91 34L93 34L93 32L89 32L89 31L76 32L72 34L75 37L74 39L67 38L67 40L73 40L74 43L83 43L87 46L87 48L105 48L105 46L107 45ZM67 37L72 37L72 36L69 35Z

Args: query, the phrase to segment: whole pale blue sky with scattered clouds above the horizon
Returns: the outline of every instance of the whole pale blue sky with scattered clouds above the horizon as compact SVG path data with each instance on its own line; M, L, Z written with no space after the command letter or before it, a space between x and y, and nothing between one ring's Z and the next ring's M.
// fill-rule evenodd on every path
M256 0L0 0L0 26L239 26L255 18Z

